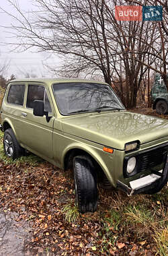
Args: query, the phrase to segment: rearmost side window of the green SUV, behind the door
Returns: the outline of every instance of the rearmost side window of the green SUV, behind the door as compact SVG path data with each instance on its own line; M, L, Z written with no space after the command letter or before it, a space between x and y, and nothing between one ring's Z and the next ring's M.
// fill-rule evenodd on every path
M24 85L12 85L7 96L7 103L23 106L24 104Z

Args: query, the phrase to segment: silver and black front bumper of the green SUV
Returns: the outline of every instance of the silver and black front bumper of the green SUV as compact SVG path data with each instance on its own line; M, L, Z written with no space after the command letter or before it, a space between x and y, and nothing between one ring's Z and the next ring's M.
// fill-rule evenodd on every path
M168 177L168 158L165 156L164 166L162 172L156 172L154 170L151 171L151 174L142 177L140 179L136 179L135 181L130 182L130 187L125 185L121 181L117 181L118 189L122 189L122 191L126 192L128 195L146 193L146 194L154 194L159 192L166 184Z

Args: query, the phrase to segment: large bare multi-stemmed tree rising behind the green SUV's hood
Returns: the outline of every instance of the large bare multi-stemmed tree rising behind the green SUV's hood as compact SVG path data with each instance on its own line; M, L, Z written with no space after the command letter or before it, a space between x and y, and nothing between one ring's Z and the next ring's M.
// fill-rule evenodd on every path
M54 67L62 73L77 77L84 73L103 75L128 107L136 106L142 77L148 69L166 75L165 22L117 22L114 6L130 1L34 0L38 11L28 15L15 0L8 1L20 15L17 18L9 13L17 21L13 26L18 39L15 49L36 47L38 51L56 53L65 59L62 67ZM146 5L149 1L140 2ZM166 11L164 17L166 20Z

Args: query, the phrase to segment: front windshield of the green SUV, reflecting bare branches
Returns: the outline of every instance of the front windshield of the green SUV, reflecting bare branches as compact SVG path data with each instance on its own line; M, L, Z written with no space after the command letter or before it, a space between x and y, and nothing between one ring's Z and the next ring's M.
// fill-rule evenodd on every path
M110 86L85 82L53 85L54 96L62 115L101 110L125 109Z

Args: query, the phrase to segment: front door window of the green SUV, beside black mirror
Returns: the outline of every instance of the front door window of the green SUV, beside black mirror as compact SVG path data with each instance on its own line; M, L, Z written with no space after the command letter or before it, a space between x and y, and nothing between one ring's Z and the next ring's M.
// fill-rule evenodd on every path
M27 108L34 108L34 100L43 100L44 111L52 112L44 86L29 85Z

